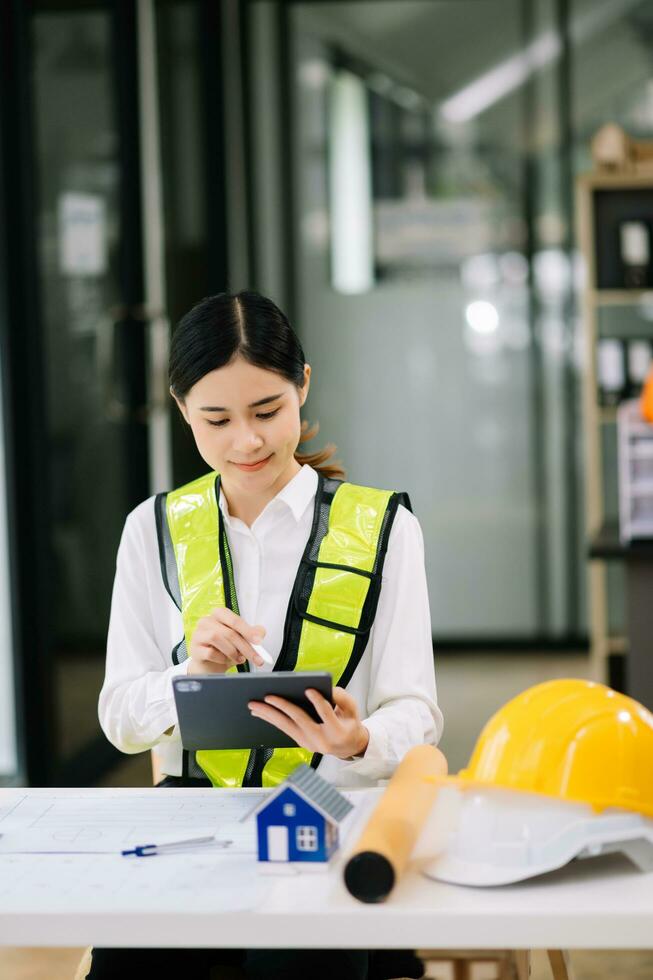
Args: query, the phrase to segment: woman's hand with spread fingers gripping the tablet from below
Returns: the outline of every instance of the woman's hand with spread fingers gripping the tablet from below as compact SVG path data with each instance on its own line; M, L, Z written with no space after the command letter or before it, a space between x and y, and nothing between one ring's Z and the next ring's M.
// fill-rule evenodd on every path
M350 759L363 755L370 736L362 724L356 702L342 687L334 687L330 705L319 691L309 688L306 697L313 704L322 722L313 721L296 704L269 694L264 701L250 701L249 710L289 735L298 745L320 755L335 755Z

